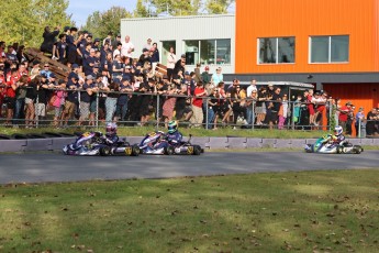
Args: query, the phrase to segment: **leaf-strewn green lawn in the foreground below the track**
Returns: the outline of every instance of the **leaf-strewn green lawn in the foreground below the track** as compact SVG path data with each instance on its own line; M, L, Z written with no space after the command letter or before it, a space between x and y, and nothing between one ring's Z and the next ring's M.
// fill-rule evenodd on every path
M379 252L379 170L0 186L0 252Z

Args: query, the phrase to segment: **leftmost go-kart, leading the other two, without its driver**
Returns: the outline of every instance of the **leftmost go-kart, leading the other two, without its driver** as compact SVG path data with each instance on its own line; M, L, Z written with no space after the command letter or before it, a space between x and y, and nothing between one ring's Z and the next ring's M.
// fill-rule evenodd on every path
M130 145L126 141L118 141L109 144L101 132L85 132L79 134L74 143L65 145L63 153L66 155L124 155L138 156L140 147Z

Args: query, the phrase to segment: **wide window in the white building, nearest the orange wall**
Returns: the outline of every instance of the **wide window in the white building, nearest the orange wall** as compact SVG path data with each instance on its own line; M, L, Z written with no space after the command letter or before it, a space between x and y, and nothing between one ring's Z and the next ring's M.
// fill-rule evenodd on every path
M186 64L231 64L231 40L185 41Z

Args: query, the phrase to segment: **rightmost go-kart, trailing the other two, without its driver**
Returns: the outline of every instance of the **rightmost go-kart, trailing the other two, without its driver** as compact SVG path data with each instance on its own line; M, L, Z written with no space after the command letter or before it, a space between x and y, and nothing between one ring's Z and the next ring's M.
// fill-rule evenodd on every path
M327 138L320 138L314 144L306 144L304 150L306 153L323 154L360 154L364 148L360 145L354 145L348 141L342 143L325 142Z

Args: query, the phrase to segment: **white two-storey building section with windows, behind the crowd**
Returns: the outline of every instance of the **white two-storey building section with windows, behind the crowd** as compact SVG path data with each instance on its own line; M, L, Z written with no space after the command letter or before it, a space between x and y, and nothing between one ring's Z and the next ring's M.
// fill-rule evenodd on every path
M216 66L222 66L223 73L235 73L234 14L122 19L122 40L126 35L136 47L133 57L140 57L147 38L152 38L164 65L169 47L174 46L178 59L186 54L189 72L201 63L210 66L210 73Z

